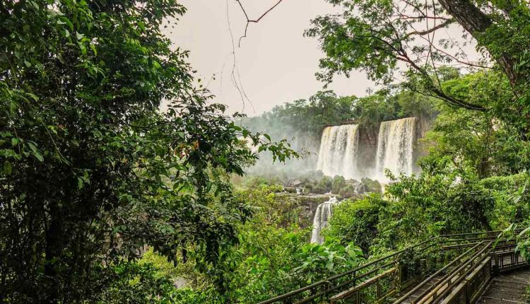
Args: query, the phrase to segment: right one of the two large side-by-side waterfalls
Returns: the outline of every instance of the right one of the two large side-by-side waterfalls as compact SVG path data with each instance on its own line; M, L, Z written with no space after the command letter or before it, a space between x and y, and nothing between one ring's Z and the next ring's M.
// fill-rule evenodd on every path
M384 169L393 174L412 174L415 134L416 117L381 122L375 165L377 180L386 180Z

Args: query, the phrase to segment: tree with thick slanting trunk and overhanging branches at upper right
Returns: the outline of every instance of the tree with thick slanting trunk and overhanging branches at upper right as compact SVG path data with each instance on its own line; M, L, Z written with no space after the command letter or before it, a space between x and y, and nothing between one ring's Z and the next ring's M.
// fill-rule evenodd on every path
M527 112L530 8L526 1L328 1L342 6L343 13L314 19L313 28L306 32L319 38L326 54L320 61L324 71L317 74L319 78L329 82L334 74L363 69L370 78L390 83L401 63L415 90L449 105L495 110L500 117L524 124L521 130L526 132L526 115L506 114ZM464 30L461 39L444 30L455 25ZM476 43L482 54L478 62L462 49L470 43ZM490 59L496 65L492 66ZM447 64L502 71L512 87L510 100L498 110L495 105L471 103L451 95L442 88L437 73Z

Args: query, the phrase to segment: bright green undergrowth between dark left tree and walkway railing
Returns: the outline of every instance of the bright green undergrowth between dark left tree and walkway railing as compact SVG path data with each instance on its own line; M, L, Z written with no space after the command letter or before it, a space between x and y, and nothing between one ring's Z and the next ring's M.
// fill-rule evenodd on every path
M182 269L187 273L179 275L187 277L192 288L176 292L182 303L200 303L197 298L208 298L208 303L256 303L360 263L362 252L349 242L341 245L328 239L322 245L310 244L308 229L283 227L278 217L288 217L289 211L278 210L283 201L275 190L261 187L240 193L259 209L252 220L238 227L240 242L220 252L218 264L205 271ZM222 290L213 288L220 283Z

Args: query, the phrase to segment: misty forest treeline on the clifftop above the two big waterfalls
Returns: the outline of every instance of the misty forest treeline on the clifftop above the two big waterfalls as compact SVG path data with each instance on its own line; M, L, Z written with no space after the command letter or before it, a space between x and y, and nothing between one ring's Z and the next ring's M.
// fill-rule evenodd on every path
M353 121L367 128L378 127L385 120L432 116L433 110L432 100L404 89L379 90L363 98L338 97L326 90L309 100L295 100L258 117L246 118L243 124L266 130L276 139L295 137L301 141L302 137L318 136L328 125Z

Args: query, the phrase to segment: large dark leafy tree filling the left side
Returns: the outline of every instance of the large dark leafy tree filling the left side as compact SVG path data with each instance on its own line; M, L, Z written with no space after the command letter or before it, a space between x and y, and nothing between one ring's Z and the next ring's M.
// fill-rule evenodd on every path
M194 88L188 53L160 30L184 11L174 0L0 3L1 300L97 300L145 245L175 260L191 243L216 262L250 214L227 175L257 159L242 137L296 156Z

